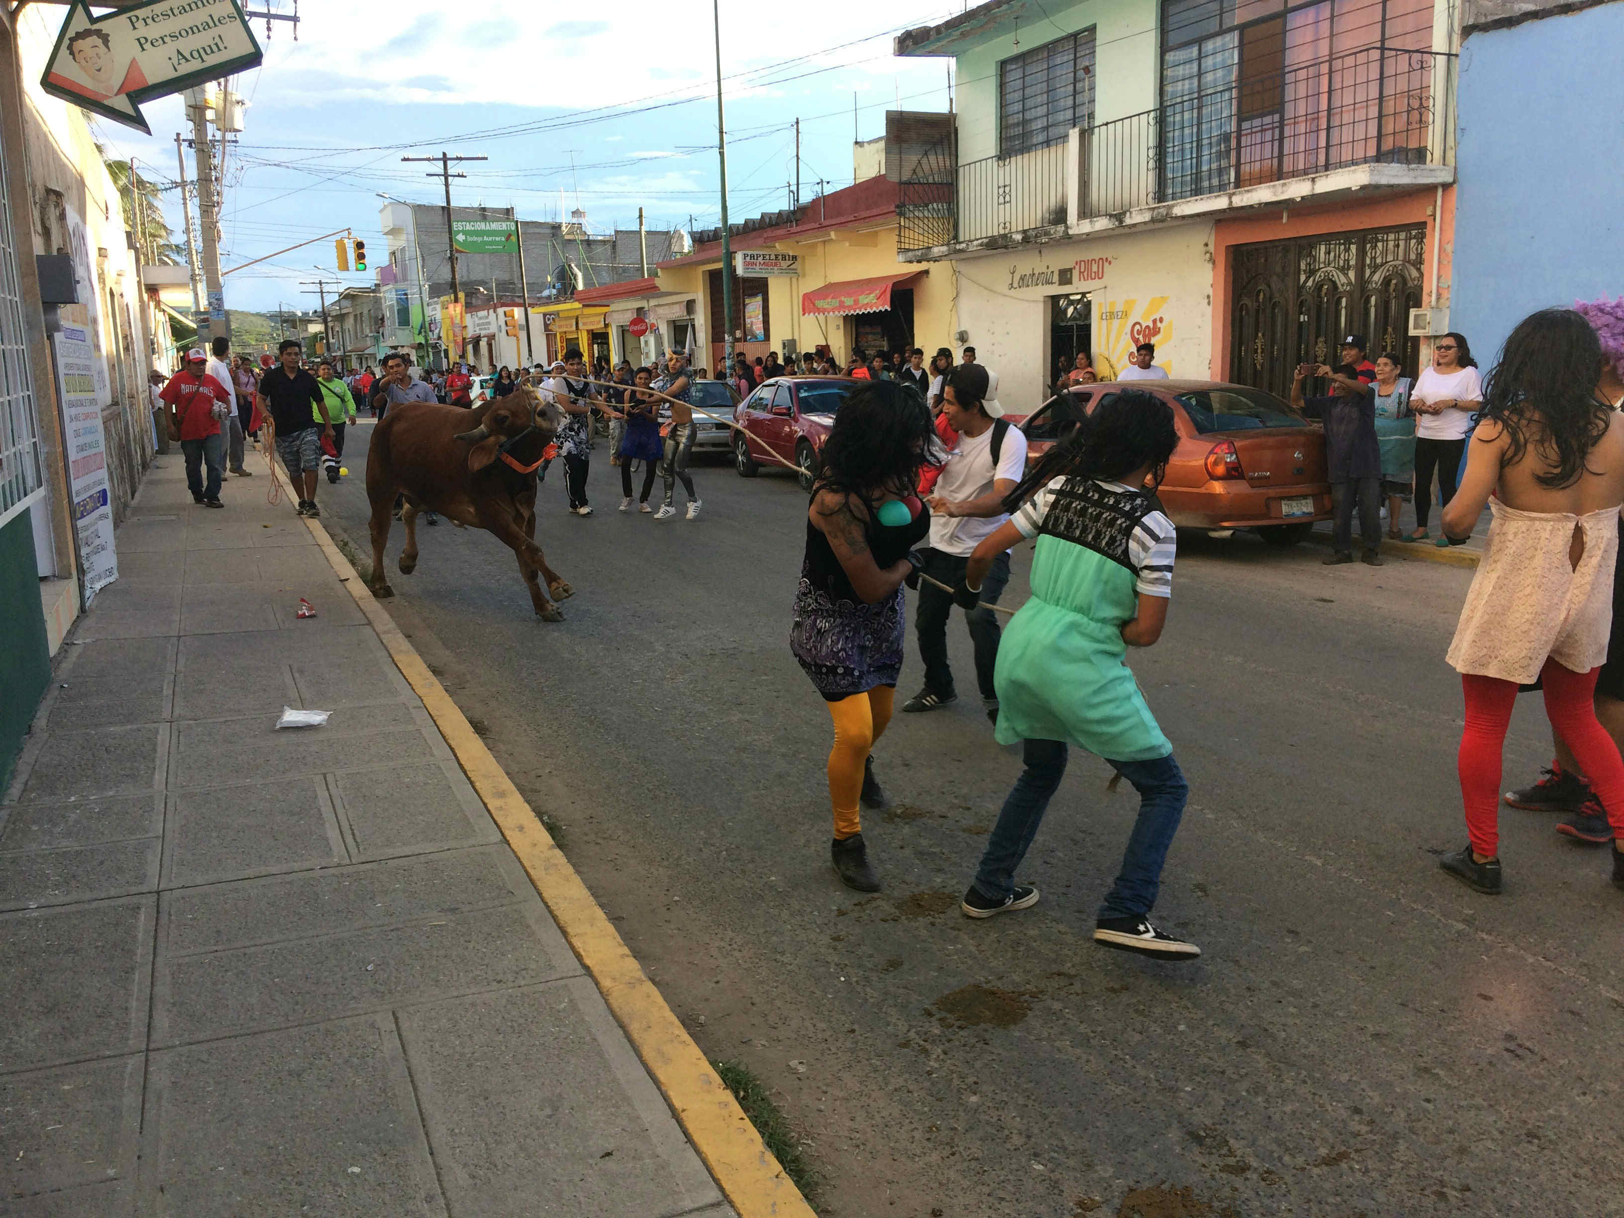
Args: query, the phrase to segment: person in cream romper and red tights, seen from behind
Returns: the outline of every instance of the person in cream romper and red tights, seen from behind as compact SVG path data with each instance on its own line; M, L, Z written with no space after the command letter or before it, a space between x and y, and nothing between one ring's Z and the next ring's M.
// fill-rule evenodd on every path
M1624 760L1595 711L1624 503L1624 417L1596 393L1603 367L1577 312L1525 317L1489 372L1466 476L1444 508L1455 542L1484 505L1494 513L1447 656L1466 702L1458 765L1471 840L1439 866L1478 892L1501 890L1501 752L1517 689L1536 677L1611 825L1624 887Z

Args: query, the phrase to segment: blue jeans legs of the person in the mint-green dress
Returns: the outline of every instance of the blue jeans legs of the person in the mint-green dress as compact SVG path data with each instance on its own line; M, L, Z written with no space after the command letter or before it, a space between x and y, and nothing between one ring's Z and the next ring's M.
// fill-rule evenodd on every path
M974 879L976 892L994 901L1015 890L1015 869L1026 857L1043 814L1065 776L1065 744L1025 741L1021 760L1026 768L1004 801ZM1140 918L1156 903L1161 864L1168 859L1173 835L1179 831L1190 788L1173 754L1151 762L1111 762L1111 767L1138 791L1138 820L1122 854L1122 870L1098 916Z

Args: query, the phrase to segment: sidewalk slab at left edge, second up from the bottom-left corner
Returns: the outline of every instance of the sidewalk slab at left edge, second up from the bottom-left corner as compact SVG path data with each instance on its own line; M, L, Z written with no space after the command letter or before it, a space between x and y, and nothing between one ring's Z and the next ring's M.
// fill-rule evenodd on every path
M0 914L0 1072L145 1047L154 906Z

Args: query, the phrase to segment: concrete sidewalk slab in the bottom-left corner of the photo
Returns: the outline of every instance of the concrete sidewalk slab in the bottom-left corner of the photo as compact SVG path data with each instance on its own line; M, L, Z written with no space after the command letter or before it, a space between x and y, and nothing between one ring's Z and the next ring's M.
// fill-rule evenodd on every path
M132 1054L0 1075L0 1199L132 1177L141 1065Z

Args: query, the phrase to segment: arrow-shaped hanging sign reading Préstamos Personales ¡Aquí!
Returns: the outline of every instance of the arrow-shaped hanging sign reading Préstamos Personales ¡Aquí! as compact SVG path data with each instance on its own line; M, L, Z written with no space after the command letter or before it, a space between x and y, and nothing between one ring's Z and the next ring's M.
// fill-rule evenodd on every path
M91 16L68 8L41 88L151 135L136 102L255 67L260 44L237 0L148 0Z

